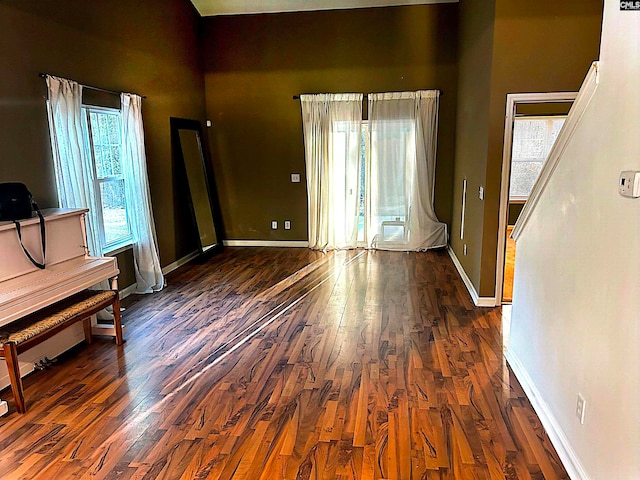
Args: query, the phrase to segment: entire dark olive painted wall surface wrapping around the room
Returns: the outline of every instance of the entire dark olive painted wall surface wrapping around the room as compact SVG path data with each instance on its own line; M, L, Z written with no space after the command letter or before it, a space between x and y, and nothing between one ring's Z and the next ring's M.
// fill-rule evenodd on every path
M474 286L492 296L506 95L578 89L598 57L601 19L602 0L461 0L201 20L187 0L0 0L0 181L25 182L41 206L56 204L38 77L52 73L147 96L163 265L194 250L197 239L180 199L169 117L213 122L205 136L226 238L305 240L302 124L291 97L439 88L436 212ZM300 184L290 182L294 172L303 174ZM284 220L292 230L282 230Z

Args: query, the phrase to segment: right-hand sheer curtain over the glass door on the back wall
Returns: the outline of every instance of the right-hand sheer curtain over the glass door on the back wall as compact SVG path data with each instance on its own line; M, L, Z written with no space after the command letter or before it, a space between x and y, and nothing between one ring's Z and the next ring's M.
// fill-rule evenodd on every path
M367 244L426 250L447 244L433 208L439 92L369 94Z

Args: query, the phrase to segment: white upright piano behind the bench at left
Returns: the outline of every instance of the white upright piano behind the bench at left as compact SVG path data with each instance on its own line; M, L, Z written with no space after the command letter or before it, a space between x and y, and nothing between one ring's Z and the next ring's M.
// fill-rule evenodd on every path
M0 326L104 280L109 280L111 288L117 289L120 271L116 259L89 255L85 230L87 212L86 209L42 211L47 242L44 270L34 266L23 252L14 223L0 222ZM20 220L20 226L24 245L36 260L40 260L39 219ZM98 331L101 334L109 333L108 329L105 331L103 328L98 328ZM59 335L64 334L61 332ZM71 346L73 343L61 347L61 351ZM4 365L2 370L4 372ZM2 376L0 373L0 388L8 385L8 382L2 381Z

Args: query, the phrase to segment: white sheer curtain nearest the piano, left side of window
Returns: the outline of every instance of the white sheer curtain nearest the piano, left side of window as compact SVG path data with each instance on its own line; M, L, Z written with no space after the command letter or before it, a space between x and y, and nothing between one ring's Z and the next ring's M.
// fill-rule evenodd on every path
M58 202L62 208L88 208L87 247L101 257L102 244L96 219L93 169L84 144L82 85L66 78L46 77L51 151Z

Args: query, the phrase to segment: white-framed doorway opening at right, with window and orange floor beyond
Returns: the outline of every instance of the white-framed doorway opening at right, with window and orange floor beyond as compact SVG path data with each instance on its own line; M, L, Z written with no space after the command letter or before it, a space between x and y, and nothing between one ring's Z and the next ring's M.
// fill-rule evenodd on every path
M507 95L496 259L497 304L510 304L513 299L516 246L511 231L576 96L575 92Z

